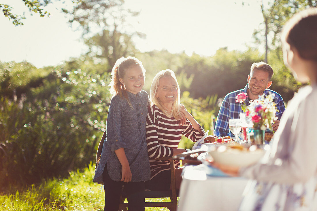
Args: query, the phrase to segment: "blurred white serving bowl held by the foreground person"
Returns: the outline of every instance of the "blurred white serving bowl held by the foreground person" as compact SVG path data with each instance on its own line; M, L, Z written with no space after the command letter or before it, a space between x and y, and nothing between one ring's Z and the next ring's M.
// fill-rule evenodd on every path
M232 149L226 146L210 148L209 155L215 162L237 167L245 167L257 163L265 154L266 150L257 148L255 150L248 149Z

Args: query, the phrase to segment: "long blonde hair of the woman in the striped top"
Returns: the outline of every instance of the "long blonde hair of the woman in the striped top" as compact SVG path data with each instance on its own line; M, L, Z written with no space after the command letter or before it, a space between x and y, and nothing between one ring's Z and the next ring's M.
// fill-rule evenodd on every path
M162 77L172 77L175 82L176 82L176 87L177 87L177 95L176 95L176 100L172 104L172 111L171 113L165 108L165 106L162 104L159 98L155 97L156 91L159 87L159 80ZM152 85L151 85L151 90L150 90L150 99L151 99L151 104L157 105L159 109L163 111L163 113L171 118L171 116L174 116L175 119L180 119L181 118L181 112L180 112L180 89L179 85L176 79L176 76L173 71L171 70L161 70L159 71L155 77L153 78Z

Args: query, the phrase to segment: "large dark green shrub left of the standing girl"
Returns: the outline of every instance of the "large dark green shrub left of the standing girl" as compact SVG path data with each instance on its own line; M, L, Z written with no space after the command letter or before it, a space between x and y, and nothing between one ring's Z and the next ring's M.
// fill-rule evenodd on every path
M108 80L65 64L21 98L1 96L0 187L67 175L94 160L106 127Z

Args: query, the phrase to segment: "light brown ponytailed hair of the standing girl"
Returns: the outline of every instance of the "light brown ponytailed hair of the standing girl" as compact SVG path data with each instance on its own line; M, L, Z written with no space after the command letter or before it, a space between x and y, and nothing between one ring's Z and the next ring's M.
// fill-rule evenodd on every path
M112 95L119 95L121 98L123 96L126 98L128 101L128 104L130 107L133 109L131 102L128 98L126 88L124 87L123 84L120 82L120 78L124 78L124 75L126 74L126 71L131 69L132 67L140 67L143 75L145 77L145 69L142 65L142 62L140 62L137 58L133 56L128 56L127 58L121 57L119 58L116 63L114 64L112 71L111 71L111 82L109 84L110 86L110 93Z

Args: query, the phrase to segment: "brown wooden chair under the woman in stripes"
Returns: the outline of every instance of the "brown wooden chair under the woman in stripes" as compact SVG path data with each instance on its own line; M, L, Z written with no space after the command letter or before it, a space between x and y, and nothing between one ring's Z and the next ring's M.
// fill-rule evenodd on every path
M150 159L150 160L170 160L171 162L171 190L166 191L144 191L144 198L170 198L171 201L144 202L145 207L167 207L169 210L176 211L177 208L177 190L175 185L175 159L171 157ZM125 203L125 195L120 197L119 211L127 211L128 203Z

